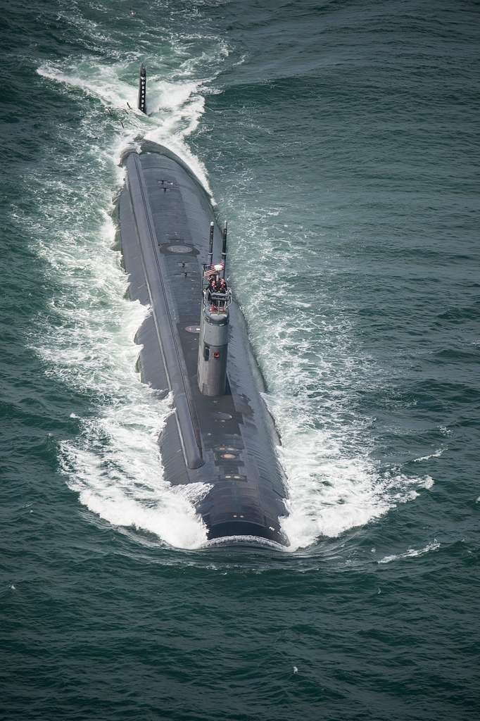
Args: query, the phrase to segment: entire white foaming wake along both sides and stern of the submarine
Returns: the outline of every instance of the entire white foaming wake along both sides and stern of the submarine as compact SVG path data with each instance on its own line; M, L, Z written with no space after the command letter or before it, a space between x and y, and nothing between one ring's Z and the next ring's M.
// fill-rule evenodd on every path
M205 94L215 92L210 83L227 54L226 46L212 37L210 49L203 43L197 61L185 55L181 44L172 43L169 58L132 53L102 64L85 57L75 63L45 63L37 70L45 83L81 107L80 128L58 128L61 139L75 146L75 154L64 159L75 182L59 180L58 174L37 179L48 222L36 249L48 260L58 290L52 301L54 321L48 325L40 319L35 345L48 372L87 394L97 408L94 415L79 419L79 435L62 444L61 465L68 485L93 513L187 549L206 541L195 502L208 485L173 489L164 481L157 441L171 407L168 399L141 384L135 372L134 337L146 309L125 299L128 280L120 254L112 249L110 214L123 184L120 156L143 139L174 151L210 190L205 168L187 140L200 131ZM141 59L148 69L148 116L136 109ZM61 177L67 179L68 172ZM277 218L277 211L267 211L265 228L272 215ZM238 222L237 236L244 239L262 227L262 219L253 220L248 210ZM285 226L280 240L295 241L295 232L301 229ZM265 257L275 257L271 240L263 239ZM262 265L252 247L257 244L240 239L232 252L232 265L241 265L246 277ZM381 472L370 460L368 420L349 410L350 389L355 377L361 382L359 368L368 370L368 359L358 358L351 347L345 321L332 324L327 314L291 297L281 278L281 259L265 267L271 269L267 281L280 319L268 309L257 311L262 301L255 293L242 300L247 319L256 318L250 332L270 388L266 401L282 436L279 453L289 492L283 530L294 551L319 536L339 536L373 521L397 503L413 500L419 488L427 489L433 481L407 477L400 469ZM324 306L329 302L322 300Z

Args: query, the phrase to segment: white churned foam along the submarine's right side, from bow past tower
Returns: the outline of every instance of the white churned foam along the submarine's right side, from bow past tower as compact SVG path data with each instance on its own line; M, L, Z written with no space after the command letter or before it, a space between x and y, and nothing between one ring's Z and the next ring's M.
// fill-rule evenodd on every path
M288 478L288 514L282 527L288 550L295 551L321 536L333 538L365 526L399 503L414 500L434 482L401 467L382 468L373 459L372 419L355 410L353 399L359 389L375 384L381 371L355 343L347 314L332 308L324 271L316 267L319 239L307 237L300 225L283 224L274 211L265 208L254 221L246 211L240 251L246 278L254 278L262 267L270 308L265 309L255 285L241 300L247 318L255 318L249 330L267 379L265 401L280 432L278 451ZM294 279L277 250L285 247L290 257L302 254L309 283L319 288L314 303L308 295L299 298L292 292Z

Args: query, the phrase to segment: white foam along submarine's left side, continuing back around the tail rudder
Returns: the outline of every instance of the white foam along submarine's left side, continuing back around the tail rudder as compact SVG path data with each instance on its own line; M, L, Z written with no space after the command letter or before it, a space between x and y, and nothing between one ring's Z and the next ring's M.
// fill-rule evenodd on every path
M212 45L213 55L224 55L222 45ZM45 225L54 234L45 228L35 249L48 261L58 290L51 304L54 321L40 319L34 345L47 372L86 394L96 408L78 419L79 435L60 448L61 468L81 503L115 526L194 549L206 541L195 504L209 486L172 487L164 480L158 438L172 407L135 370L135 332L149 309L126 298L128 278L114 249L111 216L124 180L120 155L142 138L172 149L208 190L205 169L185 143L203 113L206 80L195 77L191 60L187 72L181 54L177 59L177 71L163 77L155 74L154 61L148 63L148 116L136 109L136 57L38 68L45 82L77 99L82 120L75 138L70 128L59 128L63 140L75 143L76 157L69 161L74 185L62 185L55 174L37 179ZM71 418L77 420L74 413Z

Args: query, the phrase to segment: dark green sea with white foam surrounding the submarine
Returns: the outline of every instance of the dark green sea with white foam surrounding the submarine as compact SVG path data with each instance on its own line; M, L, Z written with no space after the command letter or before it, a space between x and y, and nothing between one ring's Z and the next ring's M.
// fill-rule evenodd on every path
M0 28L1 720L478 719L479 3ZM209 545L163 480L112 219L144 138L228 218L288 549Z

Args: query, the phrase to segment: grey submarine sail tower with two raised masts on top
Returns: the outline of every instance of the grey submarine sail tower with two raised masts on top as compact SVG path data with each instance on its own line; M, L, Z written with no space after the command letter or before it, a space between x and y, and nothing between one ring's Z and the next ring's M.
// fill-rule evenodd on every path
M197 382L204 396L223 396L226 393L228 354L228 325L231 291L225 283L227 224L223 228L222 260L213 264L213 231L210 224L209 262L203 266L203 289L200 311L200 342L198 344ZM221 282L223 280L223 283Z

